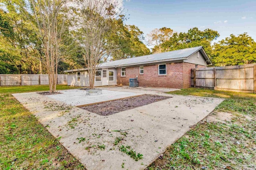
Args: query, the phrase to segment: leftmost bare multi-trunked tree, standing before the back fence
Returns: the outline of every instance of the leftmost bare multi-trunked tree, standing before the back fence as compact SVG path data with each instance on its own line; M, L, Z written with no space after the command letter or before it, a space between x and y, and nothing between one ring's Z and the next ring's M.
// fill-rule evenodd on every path
M28 17L32 25L35 25L34 32L42 43L42 47L36 49L40 55L38 59L45 65L48 73L50 93L56 92L58 63L66 52L66 40L63 38L68 20L66 5L67 0L32 0L34 17Z

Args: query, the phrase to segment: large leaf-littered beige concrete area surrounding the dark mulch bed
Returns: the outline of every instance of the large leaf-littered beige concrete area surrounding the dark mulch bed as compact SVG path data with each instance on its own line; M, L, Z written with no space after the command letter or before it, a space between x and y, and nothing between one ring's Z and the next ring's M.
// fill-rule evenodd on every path
M116 87L112 90L127 89ZM131 89L128 88L129 90ZM123 169L123 163L124 169L146 168L166 150L166 147L184 135L192 125L204 119L223 101L220 98L134 90L136 93L142 91L173 98L109 116L100 116L34 92L13 96L36 115L54 137L61 137L60 143L88 170ZM125 131L126 133L112 131L123 129L130 130ZM116 137L123 139L118 145L114 145ZM79 143L79 138L84 138L84 141ZM143 159L135 161L130 158L119 150L122 145L130 146L136 153L143 154Z

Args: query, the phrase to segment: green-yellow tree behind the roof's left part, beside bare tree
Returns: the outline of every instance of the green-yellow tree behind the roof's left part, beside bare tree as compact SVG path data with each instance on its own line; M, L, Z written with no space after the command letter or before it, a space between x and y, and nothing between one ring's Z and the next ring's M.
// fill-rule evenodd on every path
M110 36L106 37L108 57L111 60L127 59L150 54L142 42L143 32L135 25L124 25L124 16L112 20Z

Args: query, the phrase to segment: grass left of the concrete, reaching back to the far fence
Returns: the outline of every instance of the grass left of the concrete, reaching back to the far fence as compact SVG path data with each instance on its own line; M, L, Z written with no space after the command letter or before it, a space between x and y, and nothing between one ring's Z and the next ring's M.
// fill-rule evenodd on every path
M57 90L74 87L58 85ZM48 86L0 87L0 169L84 170L11 93L47 91Z

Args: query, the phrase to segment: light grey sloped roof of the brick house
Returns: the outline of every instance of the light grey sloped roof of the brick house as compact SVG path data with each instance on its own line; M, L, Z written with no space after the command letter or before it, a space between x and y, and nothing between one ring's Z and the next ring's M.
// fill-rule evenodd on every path
M129 58L129 59L109 61L106 63L101 63L99 65L99 68L131 66L131 65L138 65L138 64L160 63L160 62L165 62L165 61L184 60L199 50L204 51L202 46L198 46L198 47L192 47L192 48L187 48L187 49L168 51L168 52L164 52L164 53L144 55L144 56L134 57L134 58ZM206 60L208 59L205 52L203 53L203 56ZM66 70L64 72L73 72L73 71L80 71L80 70L87 70L87 69L81 68L81 69L75 69L75 70Z

